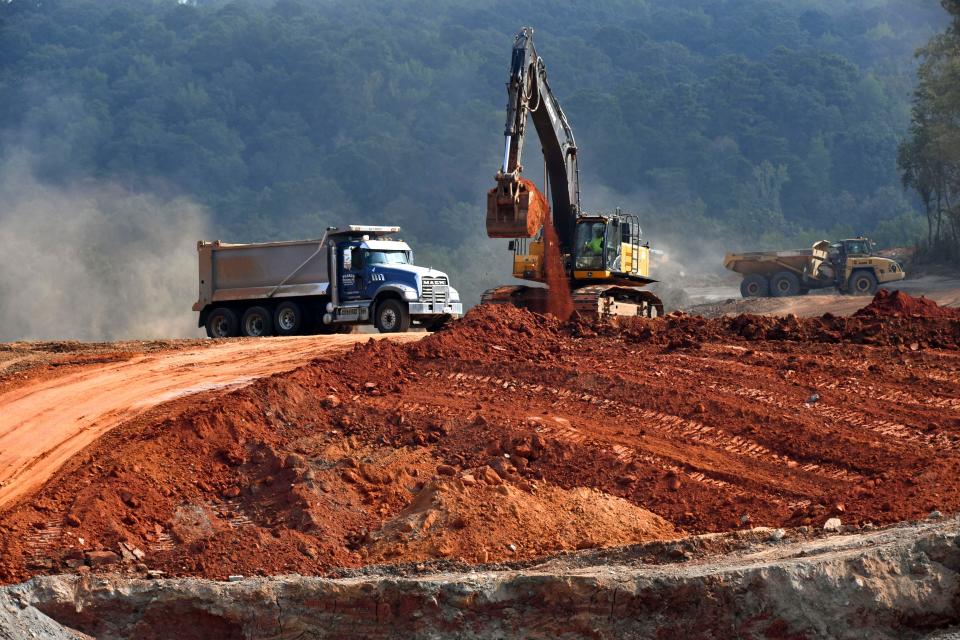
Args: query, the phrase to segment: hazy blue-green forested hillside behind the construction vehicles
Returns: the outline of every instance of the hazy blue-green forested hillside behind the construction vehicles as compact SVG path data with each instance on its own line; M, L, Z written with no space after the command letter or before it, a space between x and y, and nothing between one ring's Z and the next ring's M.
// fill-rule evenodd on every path
M936 0L0 1L0 146L49 184L189 196L225 239L396 222L475 271L529 24L588 209L739 244L904 242L925 232L896 166L913 52L946 22Z

